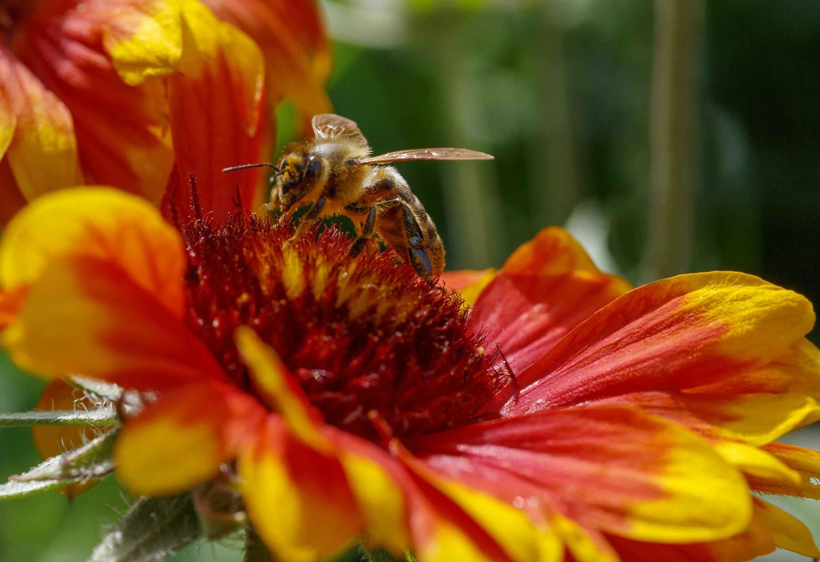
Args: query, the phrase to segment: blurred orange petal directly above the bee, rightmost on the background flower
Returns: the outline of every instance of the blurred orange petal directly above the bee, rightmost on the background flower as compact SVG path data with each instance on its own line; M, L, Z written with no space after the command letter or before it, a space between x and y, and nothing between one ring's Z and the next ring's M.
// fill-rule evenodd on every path
M331 110L324 84L330 49L317 3L312 0L203 0L216 15L262 48L269 95L290 98L308 120Z

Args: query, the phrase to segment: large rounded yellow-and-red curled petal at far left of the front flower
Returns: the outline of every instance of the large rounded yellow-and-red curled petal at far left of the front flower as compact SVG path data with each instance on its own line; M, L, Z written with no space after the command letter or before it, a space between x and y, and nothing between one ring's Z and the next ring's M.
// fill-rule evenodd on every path
M144 199L103 188L43 195L0 240L0 284L17 294L3 344L52 377L157 390L225 377L182 322L184 272L179 233Z

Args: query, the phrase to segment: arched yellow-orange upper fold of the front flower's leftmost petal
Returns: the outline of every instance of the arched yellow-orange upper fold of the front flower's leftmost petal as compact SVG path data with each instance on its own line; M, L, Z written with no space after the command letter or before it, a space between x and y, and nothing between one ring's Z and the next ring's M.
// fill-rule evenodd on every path
M185 247L180 234L143 199L110 188L75 188L30 203L0 241L0 286L29 285L49 263L66 256L121 267L181 318Z

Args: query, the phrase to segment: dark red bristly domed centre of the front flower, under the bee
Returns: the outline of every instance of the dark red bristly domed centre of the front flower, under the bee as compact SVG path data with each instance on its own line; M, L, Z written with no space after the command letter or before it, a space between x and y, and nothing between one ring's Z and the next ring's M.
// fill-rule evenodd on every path
M270 344L326 422L379 441L469 423L506 381L457 295L444 295L376 244L350 258L331 226L295 244L288 223L236 213L183 227L189 327L253 392L234 343L247 325Z

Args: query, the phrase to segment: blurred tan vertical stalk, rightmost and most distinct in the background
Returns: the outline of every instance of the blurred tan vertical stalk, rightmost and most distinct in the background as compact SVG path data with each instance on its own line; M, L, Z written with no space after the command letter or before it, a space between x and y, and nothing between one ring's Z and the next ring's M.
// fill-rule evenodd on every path
M643 281L686 272L695 184L701 0L655 0L649 220Z

